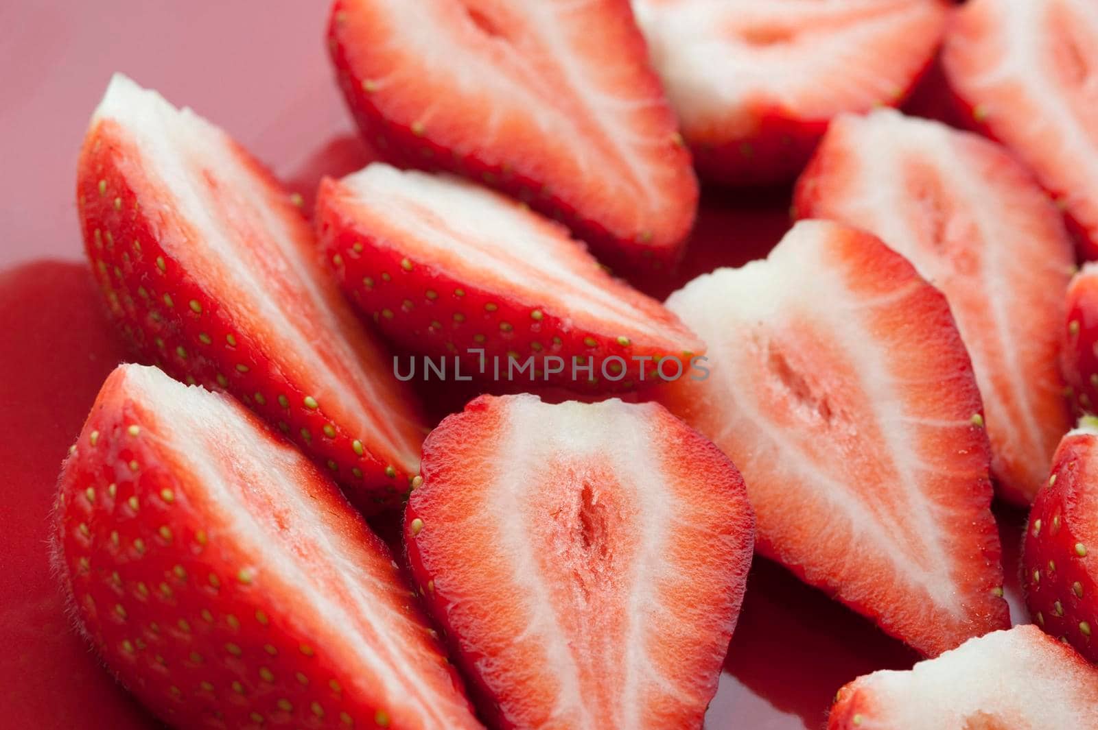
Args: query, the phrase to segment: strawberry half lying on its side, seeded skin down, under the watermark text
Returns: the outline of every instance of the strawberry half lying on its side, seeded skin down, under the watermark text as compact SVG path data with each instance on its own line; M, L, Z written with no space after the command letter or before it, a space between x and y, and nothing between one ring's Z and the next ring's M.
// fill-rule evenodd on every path
M704 350L563 227L463 180L381 163L325 179L316 226L344 290L385 335L444 368L457 354L467 376L620 389ZM405 373L429 377L412 362Z

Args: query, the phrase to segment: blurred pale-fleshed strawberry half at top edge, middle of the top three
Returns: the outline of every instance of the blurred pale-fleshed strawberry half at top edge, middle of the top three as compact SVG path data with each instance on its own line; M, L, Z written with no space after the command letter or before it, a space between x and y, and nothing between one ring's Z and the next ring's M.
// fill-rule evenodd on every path
M904 101L942 0L632 0L703 176L784 182L828 121Z

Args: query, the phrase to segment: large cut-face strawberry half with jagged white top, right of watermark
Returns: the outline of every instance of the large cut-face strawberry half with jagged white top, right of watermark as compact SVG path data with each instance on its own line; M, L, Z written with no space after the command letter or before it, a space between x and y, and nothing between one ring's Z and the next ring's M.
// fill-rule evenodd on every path
M661 398L742 470L762 555L926 654L1009 626L979 391L903 256L802 221L668 307L712 365Z

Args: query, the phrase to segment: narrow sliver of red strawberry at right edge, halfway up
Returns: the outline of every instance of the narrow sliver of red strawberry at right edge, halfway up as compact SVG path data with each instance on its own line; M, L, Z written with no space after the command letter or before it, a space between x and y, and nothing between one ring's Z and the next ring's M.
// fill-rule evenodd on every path
M1088 263L1067 287L1060 365L1078 410L1098 409L1098 263Z

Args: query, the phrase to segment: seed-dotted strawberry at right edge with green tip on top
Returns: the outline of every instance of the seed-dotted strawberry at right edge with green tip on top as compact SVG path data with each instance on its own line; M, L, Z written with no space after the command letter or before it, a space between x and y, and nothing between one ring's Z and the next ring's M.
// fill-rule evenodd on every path
M1085 417L1060 442L1022 550L1030 615L1098 663L1098 419Z

